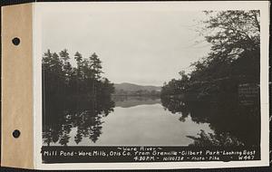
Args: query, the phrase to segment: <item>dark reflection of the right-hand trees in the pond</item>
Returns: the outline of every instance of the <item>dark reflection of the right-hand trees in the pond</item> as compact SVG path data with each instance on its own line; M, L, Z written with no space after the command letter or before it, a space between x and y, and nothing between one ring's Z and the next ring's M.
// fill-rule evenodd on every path
M225 98L225 99L224 99ZM234 97L232 97L234 98ZM209 123L214 133L200 130L190 146L259 146L260 107L259 100L252 105L241 105L228 95L217 101L185 101L178 97L161 97L162 106L172 113L180 113L180 121L190 115L197 123Z

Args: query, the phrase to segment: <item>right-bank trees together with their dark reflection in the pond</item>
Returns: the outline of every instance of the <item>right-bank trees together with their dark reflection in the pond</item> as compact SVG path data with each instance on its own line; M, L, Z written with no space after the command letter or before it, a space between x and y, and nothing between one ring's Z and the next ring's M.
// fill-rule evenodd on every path
M162 105L189 115L198 123L208 122L214 133L201 130L191 146L234 146L260 144L260 25L259 11L204 12L201 33L211 44L209 54L191 64L191 72L165 82ZM258 89L254 103L240 105L239 85ZM248 134L250 133L250 134Z

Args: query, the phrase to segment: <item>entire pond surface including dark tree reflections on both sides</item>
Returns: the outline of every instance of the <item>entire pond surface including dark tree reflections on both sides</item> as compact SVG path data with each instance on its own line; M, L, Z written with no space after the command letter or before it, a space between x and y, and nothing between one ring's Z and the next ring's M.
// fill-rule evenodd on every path
M259 145L257 105L129 96L65 103L63 109L45 109L44 146Z

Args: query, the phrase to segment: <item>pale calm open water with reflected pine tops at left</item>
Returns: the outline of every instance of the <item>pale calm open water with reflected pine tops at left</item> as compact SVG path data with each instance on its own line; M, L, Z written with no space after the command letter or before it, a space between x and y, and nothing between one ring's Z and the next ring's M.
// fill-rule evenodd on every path
M187 136L197 137L201 129L213 133L209 123L196 123L190 115L184 119L181 112L165 109L160 99L114 101L107 116L81 111L55 119L60 122L44 129L44 146L188 146L193 139Z

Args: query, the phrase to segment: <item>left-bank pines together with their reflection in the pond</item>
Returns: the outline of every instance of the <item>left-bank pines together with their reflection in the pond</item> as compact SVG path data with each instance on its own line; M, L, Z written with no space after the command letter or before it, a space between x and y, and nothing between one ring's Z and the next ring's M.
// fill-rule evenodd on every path
M102 78L102 62L96 53L83 58L75 53L71 64L66 49L48 50L43 56L43 138L46 145L67 146L71 129L76 127L76 144L86 137L95 142L102 133L102 116L114 107L113 83Z

